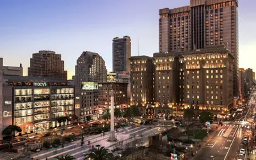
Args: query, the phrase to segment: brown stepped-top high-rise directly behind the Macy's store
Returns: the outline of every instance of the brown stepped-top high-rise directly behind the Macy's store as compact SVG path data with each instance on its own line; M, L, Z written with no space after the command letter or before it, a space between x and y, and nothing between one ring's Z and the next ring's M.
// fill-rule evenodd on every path
M67 71L64 70L61 54L56 54L54 51L33 53L30 58L30 67L28 67L28 76L67 79Z

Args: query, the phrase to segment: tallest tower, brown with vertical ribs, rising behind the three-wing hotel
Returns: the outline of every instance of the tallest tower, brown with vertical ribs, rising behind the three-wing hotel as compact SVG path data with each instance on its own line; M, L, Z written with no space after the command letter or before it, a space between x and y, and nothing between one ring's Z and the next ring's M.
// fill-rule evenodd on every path
M234 56L238 95L238 0L190 0L189 6L159 10L159 52L191 51L225 44Z

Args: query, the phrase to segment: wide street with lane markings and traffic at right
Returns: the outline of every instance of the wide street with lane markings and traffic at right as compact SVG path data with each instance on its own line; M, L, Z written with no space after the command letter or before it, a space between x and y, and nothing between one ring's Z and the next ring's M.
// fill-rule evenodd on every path
M248 106L244 109L243 115L237 116L232 122L227 122L223 127L220 127L218 131L214 133L212 139L203 148L202 152L196 156L198 160L207 159L220 159L231 160L237 159L239 150L248 148L248 145L243 145L241 142L246 133L246 127L250 126L248 122L244 122L248 118L250 108L254 96L250 100Z

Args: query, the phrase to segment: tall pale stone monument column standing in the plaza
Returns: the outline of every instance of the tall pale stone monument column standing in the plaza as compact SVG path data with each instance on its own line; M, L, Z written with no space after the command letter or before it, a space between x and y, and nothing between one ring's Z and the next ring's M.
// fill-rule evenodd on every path
M113 90L109 91L109 95L111 96L111 101L110 101L110 132L109 132L109 138L107 141L117 141L115 137L115 129L114 129L114 95L115 92Z

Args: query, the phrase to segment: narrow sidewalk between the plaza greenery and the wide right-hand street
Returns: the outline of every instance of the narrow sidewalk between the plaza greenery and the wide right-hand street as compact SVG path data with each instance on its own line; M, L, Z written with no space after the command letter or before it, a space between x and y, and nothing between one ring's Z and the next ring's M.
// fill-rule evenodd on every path
M207 138L207 136L205 136L205 138L202 140L202 142L200 143L200 147L198 148L197 146L194 147L192 149L192 152L195 153L195 156L191 157L191 153L189 155L189 160L194 160L196 159L196 157L198 155L200 155L200 152L202 152L203 148L207 145L207 143L212 139L213 135L216 133L216 131L219 131L222 127L218 127L218 129L216 129L216 126L218 126L218 124L212 124L212 132L209 133L209 139Z

